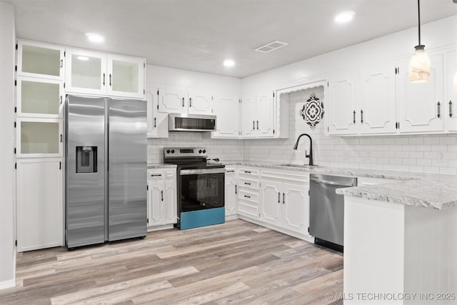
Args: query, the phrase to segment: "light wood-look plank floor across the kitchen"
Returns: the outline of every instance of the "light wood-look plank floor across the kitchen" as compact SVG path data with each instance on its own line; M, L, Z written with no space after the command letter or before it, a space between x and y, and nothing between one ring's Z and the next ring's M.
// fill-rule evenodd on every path
M0 304L342 304L343 256L242 220L17 256Z

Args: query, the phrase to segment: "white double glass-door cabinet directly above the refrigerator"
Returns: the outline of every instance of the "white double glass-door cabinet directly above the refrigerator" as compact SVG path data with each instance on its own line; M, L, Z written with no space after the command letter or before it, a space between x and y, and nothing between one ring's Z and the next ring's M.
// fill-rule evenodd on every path
M66 92L144 99L141 58L66 49Z

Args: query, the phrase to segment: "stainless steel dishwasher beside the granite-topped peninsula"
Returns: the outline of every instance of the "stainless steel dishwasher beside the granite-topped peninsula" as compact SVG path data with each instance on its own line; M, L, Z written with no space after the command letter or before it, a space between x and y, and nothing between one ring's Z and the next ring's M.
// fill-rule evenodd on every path
M357 178L310 174L309 179L309 234L315 244L343 252L344 196L335 190L357 186Z

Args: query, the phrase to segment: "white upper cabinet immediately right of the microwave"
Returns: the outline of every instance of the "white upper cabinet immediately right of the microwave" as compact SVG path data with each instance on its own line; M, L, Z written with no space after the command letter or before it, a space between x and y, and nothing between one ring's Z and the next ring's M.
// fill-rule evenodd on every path
M214 96L214 114L216 115L216 131L213 138L238 138L240 101L237 97Z

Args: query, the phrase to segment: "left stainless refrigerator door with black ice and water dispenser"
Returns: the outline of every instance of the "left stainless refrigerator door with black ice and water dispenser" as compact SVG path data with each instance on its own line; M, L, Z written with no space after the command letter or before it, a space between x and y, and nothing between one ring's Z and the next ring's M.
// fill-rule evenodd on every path
M65 151L66 246L69 248L105 241L104 122L104 98L68 96ZM81 163L79 168L87 163L81 146L97 151L96 171L78 172L78 163Z

